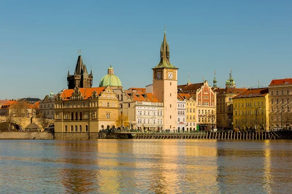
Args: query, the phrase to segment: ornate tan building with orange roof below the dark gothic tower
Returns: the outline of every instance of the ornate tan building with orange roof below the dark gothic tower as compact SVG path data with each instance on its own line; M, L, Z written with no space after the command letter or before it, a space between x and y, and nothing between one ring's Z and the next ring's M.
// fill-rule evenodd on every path
M67 89L55 98L55 139L98 139L118 117L118 99L110 87Z

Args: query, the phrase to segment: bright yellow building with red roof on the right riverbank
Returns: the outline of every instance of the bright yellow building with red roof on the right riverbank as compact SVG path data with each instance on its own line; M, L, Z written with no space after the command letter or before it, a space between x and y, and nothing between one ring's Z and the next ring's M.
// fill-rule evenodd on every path
M248 89L233 100L233 130L268 131L269 89Z

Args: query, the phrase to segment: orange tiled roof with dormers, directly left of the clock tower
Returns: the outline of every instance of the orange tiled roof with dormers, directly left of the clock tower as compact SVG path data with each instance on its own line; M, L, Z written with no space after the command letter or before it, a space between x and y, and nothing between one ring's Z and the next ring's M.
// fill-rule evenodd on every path
M160 102L152 93L146 93L145 88L129 88L128 90L125 90L124 92L133 101Z

